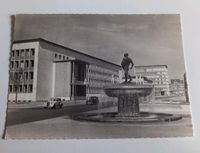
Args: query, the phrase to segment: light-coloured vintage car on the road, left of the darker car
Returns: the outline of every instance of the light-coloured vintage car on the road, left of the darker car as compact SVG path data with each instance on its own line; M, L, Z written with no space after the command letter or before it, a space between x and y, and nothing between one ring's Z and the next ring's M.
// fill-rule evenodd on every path
M62 108L63 102L62 102L61 98L50 98L48 101L44 102L43 107L45 109L47 109L47 108L51 108L51 109Z

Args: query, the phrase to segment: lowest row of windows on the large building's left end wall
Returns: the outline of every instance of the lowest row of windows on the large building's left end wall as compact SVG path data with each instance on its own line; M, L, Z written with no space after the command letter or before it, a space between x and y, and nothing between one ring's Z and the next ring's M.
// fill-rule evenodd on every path
M9 85L9 92L14 93L32 93L33 92L33 85L32 84L24 84L24 85Z

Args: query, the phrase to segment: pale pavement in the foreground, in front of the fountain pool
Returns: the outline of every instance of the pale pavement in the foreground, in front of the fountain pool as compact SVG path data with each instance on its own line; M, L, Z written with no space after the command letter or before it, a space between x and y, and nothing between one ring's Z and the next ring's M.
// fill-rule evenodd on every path
M191 118L174 122L126 124L80 122L68 116L8 126L6 139L96 139L192 136Z

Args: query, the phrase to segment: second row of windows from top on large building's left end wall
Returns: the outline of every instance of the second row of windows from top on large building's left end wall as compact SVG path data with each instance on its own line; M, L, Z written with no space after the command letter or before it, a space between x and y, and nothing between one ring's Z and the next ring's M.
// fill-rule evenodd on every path
M21 61L11 61L10 63L11 69L13 68L33 68L34 60L21 60Z

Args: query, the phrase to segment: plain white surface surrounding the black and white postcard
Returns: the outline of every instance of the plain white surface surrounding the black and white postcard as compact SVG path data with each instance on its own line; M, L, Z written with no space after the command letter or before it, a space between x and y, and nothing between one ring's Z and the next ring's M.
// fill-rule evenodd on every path
M197 0L0 0L0 131L3 132L10 47L10 15L16 13L168 14L180 13L184 56L192 102L192 138L115 140L0 140L2 153L200 152L200 4Z

